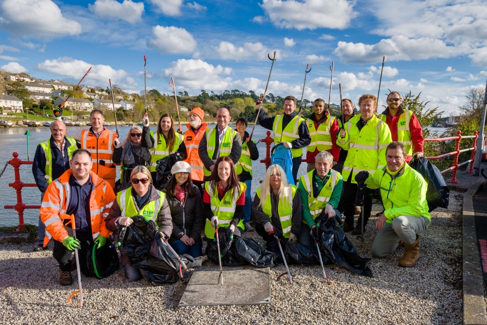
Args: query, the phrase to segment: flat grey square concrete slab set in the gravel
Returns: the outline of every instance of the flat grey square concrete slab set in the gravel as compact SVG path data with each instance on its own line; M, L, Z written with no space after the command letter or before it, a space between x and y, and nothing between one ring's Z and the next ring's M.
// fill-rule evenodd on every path
M179 306L263 305L270 304L270 269L224 267L196 268Z

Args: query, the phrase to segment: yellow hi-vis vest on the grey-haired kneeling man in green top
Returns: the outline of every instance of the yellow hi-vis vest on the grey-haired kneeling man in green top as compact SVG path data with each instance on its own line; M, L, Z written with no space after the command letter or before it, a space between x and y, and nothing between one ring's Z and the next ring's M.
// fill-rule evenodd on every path
M340 180L340 173L332 170L331 177L328 178L328 181L325 183L323 188L321 189L318 196L315 198L312 191L312 177L313 171L310 171L306 175L301 176L300 181L303 183L304 188L308 192L308 208L313 220L315 220L320 213L325 209L325 206L330 201L331 195L333 193L333 189L338 184ZM304 219L303 219L304 222Z

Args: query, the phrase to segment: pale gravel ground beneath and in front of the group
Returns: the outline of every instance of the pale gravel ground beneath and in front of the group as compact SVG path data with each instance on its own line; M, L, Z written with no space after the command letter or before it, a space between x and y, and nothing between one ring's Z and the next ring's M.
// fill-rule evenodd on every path
M373 258L373 278L340 266L284 266L271 269L272 304L267 306L201 306L175 308L185 282L154 287L145 280L125 280L123 269L109 278L82 276L84 308L67 303L77 289L58 284L52 250L31 252L30 245L0 246L0 322L9 324L162 323L204 324L461 324L462 193L450 193L450 209L432 213L432 225L421 236L421 258L415 268L398 267L404 249L384 259ZM373 215L379 211L374 205ZM352 238L362 256L371 256L376 217L367 225L365 242ZM255 233L254 233L255 234ZM253 233L246 233L251 237ZM52 245L52 244L51 244ZM205 262L203 266L213 266ZM76 272L73 272L76 274ZM245 285L245 284L242 284Z

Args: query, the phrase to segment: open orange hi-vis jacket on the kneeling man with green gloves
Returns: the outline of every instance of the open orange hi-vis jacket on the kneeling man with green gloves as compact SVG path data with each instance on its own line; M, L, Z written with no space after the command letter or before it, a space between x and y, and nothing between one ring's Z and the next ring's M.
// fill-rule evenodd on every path
M41 220L46 225L46 237L44 237L44 247L49 243L51 238L62 242L68 237L64 225L69 222L69 216L66 209L69 206L69 177L73 170L68 169L58 179L54 180L47 187L44 199L41 205ZM110 207L115 201L115 194L108 182L98 177L93 171L90 172L93 187L90 195L90 215L91 215L91 232L93 240L98 235L108 238L111 232L105 225L105 218L110 212ZM75 215L76 219L76 215ZM72 227L76 225L73 224Z

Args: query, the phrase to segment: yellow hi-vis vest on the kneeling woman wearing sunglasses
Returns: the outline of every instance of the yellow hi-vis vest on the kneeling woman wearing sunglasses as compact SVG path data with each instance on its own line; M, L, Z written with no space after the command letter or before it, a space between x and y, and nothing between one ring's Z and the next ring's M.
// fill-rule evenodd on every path
M118 192L117 203L122 211L122 217L131 218L140 215L143 216L146 221L152 220L156 225L158 225L157 216L159 215L162 203L164 202L165 194L160 190L157 190L157 192L159 193L159 198L154 201L149 201L138 212L135 204L133 203L132 187L130 186L129 188Z

